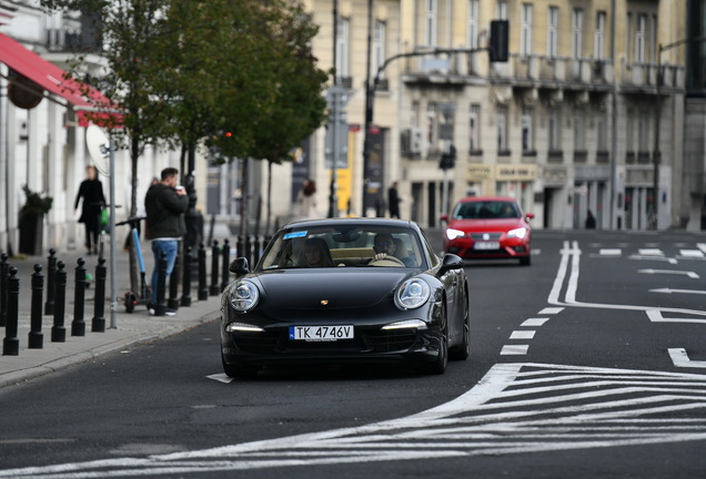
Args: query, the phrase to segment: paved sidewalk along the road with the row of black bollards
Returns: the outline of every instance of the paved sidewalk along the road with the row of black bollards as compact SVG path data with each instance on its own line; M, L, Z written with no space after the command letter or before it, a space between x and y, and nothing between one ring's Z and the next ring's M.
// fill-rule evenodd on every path
M147 281L149 283L152 273L152 253L147 242L142 244L144 255ZM91 323L94 316L93 296L95 294L94 284L85 291L83 320L85 323L84 336L71 336L71 322L73 320L74 305L74 274L79 257L85 259L84 267L87 273L95 275L95 266L98 265L98 256L83 255L83 249L72 252L57 252L56 257L65 264L67 272L67 295L65 295L65 343L51 342L51 328L53 326L53 315L42 315L42 336L43 347L41 349L28 348L28 335L30 332L31 317L31 284L34 265L42 265L42 275L44 276L44 294L42 298L42 313L47 300L47 257L49 252L44 251L43 256L28 256L24 258L10 258L10 266L18 268L17 277L20 279L19 296L19 318L18 318L18 338L20 340L20 350L18 356L0 356L0 388L22 383L46 374L50 374L58 369L90 360L94 357L124 349L131 345L145 343L158 338L171 336L173 334L190 329L198 325L214 320L220 314L220 295L211 296L205 300L198 300L198 276L192 272L192 289L190 293L192 305L189 307L180 307L176 316L150 316L147 306L138 305L132 314L125 312L123 297L125 292L130 289L130 271L129 255L122 249L122 245L115 252L115 297L117 303L112 315L115 327L111 328L111 286L110 272L105 282L105 308L103 317L105 318L105 332L92 333ZM209 252L206 271L209 272L206 279L211 283L211 257ZM109 253L105 252L105 265L110 263ZM220 266L219 266L220 267ZM168 293L169 295L169 293ZM179 288L179 298L181 298L181 283ZM6 328L0 327L2 338L6 337Z

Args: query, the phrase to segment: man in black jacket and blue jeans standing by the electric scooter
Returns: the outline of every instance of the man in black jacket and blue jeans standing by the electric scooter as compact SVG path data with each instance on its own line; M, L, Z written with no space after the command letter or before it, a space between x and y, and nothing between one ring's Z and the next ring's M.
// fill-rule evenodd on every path
M179 251L179 241L186 234L184 213L189 208L189 196L183 186L178 186L179 170L167 167L162 170L161 181L153 184L144 197L147 211L147 237L152 241L154 253L154 269L152 271L152 303L149 305L150 314L155 313L157 281L159 259L167 255L167 278L174 269L174 262ZM173 310L165 312L173 316Z

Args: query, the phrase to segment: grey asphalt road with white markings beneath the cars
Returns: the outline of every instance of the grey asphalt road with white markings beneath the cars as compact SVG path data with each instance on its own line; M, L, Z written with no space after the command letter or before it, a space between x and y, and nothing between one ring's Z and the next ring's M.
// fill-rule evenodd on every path
M4 388L0 478L704 477L706 235L534 249L467 265L473 351L443 376L222 383L209 324Z

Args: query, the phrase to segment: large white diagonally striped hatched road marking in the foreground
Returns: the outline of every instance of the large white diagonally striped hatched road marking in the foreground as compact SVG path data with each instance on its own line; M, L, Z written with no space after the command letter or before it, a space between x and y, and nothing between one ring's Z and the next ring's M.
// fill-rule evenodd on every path
M703 441L705 408L706 375L498 364L456 399L399 419L194 451L8 469L0 478L213 476Z

